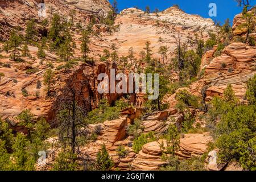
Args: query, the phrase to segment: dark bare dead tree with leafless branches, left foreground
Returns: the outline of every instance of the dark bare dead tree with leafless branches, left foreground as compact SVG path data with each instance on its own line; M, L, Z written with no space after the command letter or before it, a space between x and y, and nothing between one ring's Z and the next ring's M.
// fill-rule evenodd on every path
M87 136L85 117L90 98L85 98L82 89L88 84L88 80L79 80L76 75L68 75L66 86L63 88L63 97L59 98L57 105L56 122L59 125L59 137L61 143L71 147L72 154L80 154L78 138Z

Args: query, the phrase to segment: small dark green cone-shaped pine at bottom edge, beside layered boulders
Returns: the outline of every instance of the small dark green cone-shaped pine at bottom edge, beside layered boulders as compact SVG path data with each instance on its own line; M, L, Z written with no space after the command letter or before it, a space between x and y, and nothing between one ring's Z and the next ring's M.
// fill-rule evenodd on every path
M113 160L109 157L106 146L103 144L101 150L97 153L96 168L99 171L110 171L113 166Z

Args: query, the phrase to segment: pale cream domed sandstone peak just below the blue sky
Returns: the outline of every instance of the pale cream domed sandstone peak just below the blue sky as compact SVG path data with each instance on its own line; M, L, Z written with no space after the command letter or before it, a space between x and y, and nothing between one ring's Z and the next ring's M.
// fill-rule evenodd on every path
M117 16L115 24L119 25L117 32L111 35L103 34L106 46L109 47L115 43L120 55L128 55L129 48L133 47L137 58L139 58L139 52L143 51L147 40L151 42L154 56L160 58L159 47L167 46L168 51L174 52L178 35L181 43L195 48L195 44L187 42L191 38L195 39L196 34L200 39L207 40L209 30L217 31L211 19L186 14L176 7L170 7L158 14L145 14L144 11L135 8L125 9ZM96 43L96 45L99 47L101 43ZM171 53L170 56L173 54Z

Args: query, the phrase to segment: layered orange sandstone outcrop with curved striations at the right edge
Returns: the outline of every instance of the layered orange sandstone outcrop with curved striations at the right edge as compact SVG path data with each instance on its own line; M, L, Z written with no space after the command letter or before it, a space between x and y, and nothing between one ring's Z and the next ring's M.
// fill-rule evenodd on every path
M221 56L214 58L205 69L205 85L208 85L208 100L224 93L232 84L233 90L243 100L246 82L256 73L256 49L243 43L233 43L226 47Z

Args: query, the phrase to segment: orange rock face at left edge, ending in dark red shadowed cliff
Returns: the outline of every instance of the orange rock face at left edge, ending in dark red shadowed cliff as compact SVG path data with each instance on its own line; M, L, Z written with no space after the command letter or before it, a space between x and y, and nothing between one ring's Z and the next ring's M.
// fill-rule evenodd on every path
M28 46L30 54L37 57L38 48ZM2 119L9 118L15 120L15 116L21 113L24 109L30 109L35 117L44 117L52 120L56 117L59 100L65 97L63 95L63 88L67 86L66 81L69 78L74 78L77 81L76 90L79 90L80 95L76 100L88 100L84 105L86 110L90 111L97 107L98 102L102 98L106 98L109 103L118 99L118 94L100 94L97 92L99 73L109 72L106 64L100 63L94 66L79 63L68 72L64 69L56 69L64 63L57 63L59 58L46 51L46 60L40 63L40 59L31 59L30 57L23 57L26 62L16 63L9 58L10 53L2 53L2 64L10 64L10 68L0 66L0 72L5 74L5 77L0 82L0 113ZM52 97L47 97L47 88L43 83L44 72L47 64L51 61L53 64L52 71L55 72L53 84L51 85ZM35 73L28 73L27 71L34 69ZM27 90L27 96L24 96L24 90ZM82 103L80 103L82 104Z

